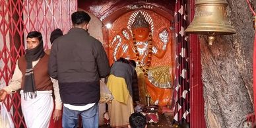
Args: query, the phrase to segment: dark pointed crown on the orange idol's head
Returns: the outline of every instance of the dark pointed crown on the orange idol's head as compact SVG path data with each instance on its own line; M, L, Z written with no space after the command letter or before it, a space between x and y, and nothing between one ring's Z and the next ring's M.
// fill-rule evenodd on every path
M145 17L141 12L135 17L133 24L131 24L131 28L148 28L149 24L146 22Z

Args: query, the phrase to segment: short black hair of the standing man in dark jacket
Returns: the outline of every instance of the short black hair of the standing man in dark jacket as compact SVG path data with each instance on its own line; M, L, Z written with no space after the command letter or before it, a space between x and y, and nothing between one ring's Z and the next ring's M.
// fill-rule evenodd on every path
M82 23L88 24L88 22L90 21L90 16L84 11L77 11L71 15L71 19L72 19L73 25L74 24L79 25Z

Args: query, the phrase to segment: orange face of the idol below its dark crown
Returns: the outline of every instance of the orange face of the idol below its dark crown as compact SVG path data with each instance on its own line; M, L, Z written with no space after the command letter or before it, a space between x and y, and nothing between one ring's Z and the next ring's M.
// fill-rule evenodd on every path
M144 42L148 40L149 28L133 28L133 34L135 34L135 39L139 42Z

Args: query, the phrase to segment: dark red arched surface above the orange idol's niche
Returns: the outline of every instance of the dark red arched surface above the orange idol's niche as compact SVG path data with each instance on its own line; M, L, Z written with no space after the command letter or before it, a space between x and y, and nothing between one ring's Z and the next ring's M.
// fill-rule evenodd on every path
M79 0L78 7L92 13L102 22L109 22L135 9L150 9L168 18L174 15L175 2L176 0Z

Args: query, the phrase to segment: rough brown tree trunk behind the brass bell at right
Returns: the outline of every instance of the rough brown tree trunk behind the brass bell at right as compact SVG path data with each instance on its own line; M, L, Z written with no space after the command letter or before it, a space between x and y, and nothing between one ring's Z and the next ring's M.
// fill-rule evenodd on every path
M207 127L247 127L253 113L253 18L246 0L228 0L228 18L237 33L201 42ZM256 1L252 1L256 5ZM255 7L255 6L254 6Z

